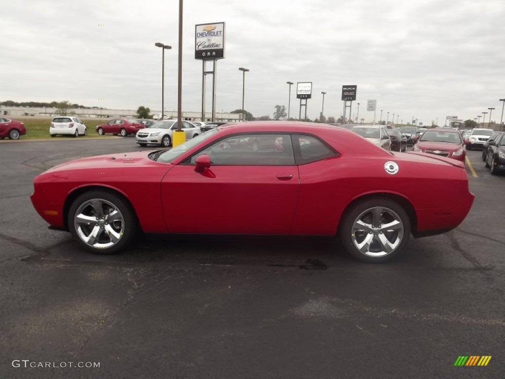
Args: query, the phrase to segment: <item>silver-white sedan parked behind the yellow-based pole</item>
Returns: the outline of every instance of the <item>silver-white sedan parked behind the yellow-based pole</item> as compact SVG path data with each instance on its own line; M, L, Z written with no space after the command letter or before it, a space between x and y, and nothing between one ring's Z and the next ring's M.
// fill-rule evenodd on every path
M172 134L177 129L177 120L164 120L155 122L145 129L140 129L135 134L135 142L140 146L161 145L168 148L172 145ZM186 132L186 140L201 134L199 127L182 121L182 130Z

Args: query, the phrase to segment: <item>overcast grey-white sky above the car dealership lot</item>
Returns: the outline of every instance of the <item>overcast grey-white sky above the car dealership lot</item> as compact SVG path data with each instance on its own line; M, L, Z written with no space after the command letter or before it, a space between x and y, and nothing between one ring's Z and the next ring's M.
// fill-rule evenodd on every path
M2 5L0 101L63 101L85 106L177 109L177 0L18 0ZM473 119L488 107L499 122L505 98L504 0L184 1L183 111L201 111L202 63L195 24L225 22L217 64L216 110L245 106L272 116L288 106L286 81L312 81L308 117L342 113L342 85L358 85L352 113L425 124ZM104 25L104 26L102 26ZM209 64L211 67L211 64ZM211 78L207 81L211 111ZM98 100L104 99L104 100ZM291 117L299 100L291 90ZM486 121L488 120L486 115ZM395 117L396 119L396 117Z

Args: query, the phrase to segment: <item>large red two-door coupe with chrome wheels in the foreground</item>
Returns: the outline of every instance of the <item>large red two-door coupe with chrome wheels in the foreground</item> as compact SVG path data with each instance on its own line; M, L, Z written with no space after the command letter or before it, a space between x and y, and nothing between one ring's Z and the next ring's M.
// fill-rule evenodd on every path
M274 138L282 149L226 148L240 138ZM177 201L201 194L207 200ZM473 199L461 162L279 121L220 126L171 150L71 161L38 175L31 196L53 228L98 254L128 246L137 231L338 235L367 262L400 254L411 233L455 228Z

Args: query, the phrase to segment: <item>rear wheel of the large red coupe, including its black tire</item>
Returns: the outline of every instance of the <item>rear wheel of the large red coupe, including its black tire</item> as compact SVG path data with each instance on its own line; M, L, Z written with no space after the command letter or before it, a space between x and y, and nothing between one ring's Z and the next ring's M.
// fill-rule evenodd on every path
M374 220L372 210L377 212L376 220ZM354 225L358 219L369 220L370 225L375 222L377 226L374 231L355 230ZM393 220L398 221L396 226L380 229L379 225ZM411 222L405 209L393 200L380 197L359 201L350 206L345 210L339 227L340 240L345 250L353 257L368 263L383 263L400 255L409 242L410 232ZM387 248L379 243L384 238L387 241ZM371 242L366 245L366 240ZM360 251L356 246L362 243L364 243L363 248L367 249L366 252Z

